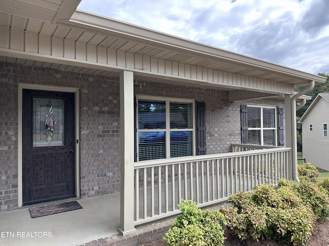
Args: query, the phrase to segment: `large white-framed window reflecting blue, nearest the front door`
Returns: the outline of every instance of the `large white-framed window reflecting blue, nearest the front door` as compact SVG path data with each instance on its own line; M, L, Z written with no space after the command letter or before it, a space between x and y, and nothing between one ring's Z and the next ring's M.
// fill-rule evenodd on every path
M194 101L137 100L138 160L194 154Z

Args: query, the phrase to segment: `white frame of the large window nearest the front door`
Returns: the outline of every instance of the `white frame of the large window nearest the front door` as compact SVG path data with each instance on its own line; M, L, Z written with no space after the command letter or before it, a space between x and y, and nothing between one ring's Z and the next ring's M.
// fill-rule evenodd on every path
M139 129L138 127L138 100L155 100L155 101L165 101L166 102L166 129ZM196 155L196 130L195 130L195 100L193 99L182 99L174 97L161 97L161 96L136 96L136 151L137 151L137 161L139 157L139 142L138 134L139 132L158 132L159 130L164 131L166 134L166 159L170 158L179 158L179 157L170 157L170 132L175 132L177 129L170 129L170 103L192 103L192 127L187 129L179 129L179 131L190 131L192 132L192 156ZM154 159L160 160L160 159ZM144 161L144 160L142 160ZM148 161L148 160L145 160Z

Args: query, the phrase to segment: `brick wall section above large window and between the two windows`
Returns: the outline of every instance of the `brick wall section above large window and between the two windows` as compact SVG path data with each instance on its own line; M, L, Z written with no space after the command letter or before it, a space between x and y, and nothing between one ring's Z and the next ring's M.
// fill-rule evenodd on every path
M233 142L241 142L240 104L230 103L227 91L136 81L135 94L204 101L207 154L229 152Z

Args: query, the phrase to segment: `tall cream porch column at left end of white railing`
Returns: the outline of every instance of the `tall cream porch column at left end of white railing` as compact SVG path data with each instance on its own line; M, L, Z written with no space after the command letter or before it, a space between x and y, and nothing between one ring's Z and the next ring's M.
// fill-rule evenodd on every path
M122 235L134 226L134 74L120 73L120 228Z

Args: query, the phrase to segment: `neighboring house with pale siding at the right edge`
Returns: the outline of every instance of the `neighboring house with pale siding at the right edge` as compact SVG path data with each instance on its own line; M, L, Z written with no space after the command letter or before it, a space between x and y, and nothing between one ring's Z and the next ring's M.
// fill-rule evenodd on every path
M302 123L303 158L329 170L329 92L319 93L299 122Z

